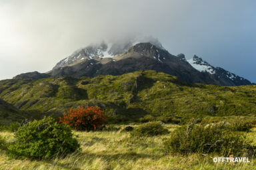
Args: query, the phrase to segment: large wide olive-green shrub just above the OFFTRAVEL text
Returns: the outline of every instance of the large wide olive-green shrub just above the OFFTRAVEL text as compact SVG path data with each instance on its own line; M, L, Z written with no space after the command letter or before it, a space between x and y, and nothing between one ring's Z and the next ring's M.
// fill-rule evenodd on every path
M166 151L181 154L215 152L239 156L248 153L248 148L251 148L243 133L232 131L224 124L183 126L175 129L163 144Z

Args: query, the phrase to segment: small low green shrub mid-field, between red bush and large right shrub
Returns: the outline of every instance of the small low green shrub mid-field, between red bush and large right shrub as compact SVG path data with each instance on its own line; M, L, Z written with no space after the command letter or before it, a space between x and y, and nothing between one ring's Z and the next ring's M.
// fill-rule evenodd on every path
M149 122L135 128L131 131L131 136L154 136L169 133L159 122Z

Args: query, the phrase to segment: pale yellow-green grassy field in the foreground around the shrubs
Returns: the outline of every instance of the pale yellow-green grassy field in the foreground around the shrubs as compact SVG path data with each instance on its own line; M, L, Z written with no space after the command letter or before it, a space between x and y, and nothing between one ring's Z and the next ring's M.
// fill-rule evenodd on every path
M133 125L136 126L136 125ZM81 144L81 150L65 158L53 161L11 159L0 150L0 169L256 169L256 159L250 163L213 163L217 155L191 154L170 155L163 150L162 139L157 137L130 137L129 132L121 131L74 131ZM169 131L175 125L165 125ZM11 140L11 132L0 131L0 135ZM256 145L256 129L247 133Z

